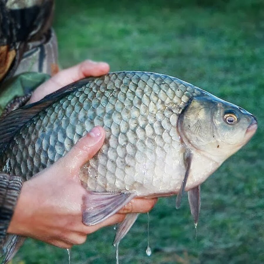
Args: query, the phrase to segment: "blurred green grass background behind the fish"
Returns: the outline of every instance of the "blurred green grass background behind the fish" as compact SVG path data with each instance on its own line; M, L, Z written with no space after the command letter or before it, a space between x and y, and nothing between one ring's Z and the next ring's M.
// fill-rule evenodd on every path
M204 182L197 230L187 195L161 198L120 244L120 263L264 263L264 2L262 0L57 0L60 64L90 58L111 71L173 75L258 119L253 139ZM115 231L72 248L72 263L115 263ZM67 263L67 252L28 239L13 263Z

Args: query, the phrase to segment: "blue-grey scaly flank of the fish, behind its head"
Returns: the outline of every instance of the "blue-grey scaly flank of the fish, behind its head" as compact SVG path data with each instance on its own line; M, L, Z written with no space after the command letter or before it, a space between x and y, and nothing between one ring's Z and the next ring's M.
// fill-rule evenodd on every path
M141 172L141 161L145 160L149 167L158 157L165 168L168 145L163 138L168 144L175 138L178 141L177 115L187 101L182 101L186 92L188 98L200 93L176 78L147 72L118 72L87 79L86 85L54 102L23 126L4 153L2 164L11 160L10 173L29 179L99 125L106 130L105 146L86 164L89 175L82 170L89 190L129 190L132 182L137 186L153 181L146 169ZM173 107L168 107L171 100ZM170 132L172 127L175 133Z

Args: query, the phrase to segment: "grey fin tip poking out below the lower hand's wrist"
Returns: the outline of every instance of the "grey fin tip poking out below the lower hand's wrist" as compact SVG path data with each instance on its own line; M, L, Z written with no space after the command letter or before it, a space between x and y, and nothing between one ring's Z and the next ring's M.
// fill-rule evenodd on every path
M2 248L2 264L9 263L12 260L13 256L16 254L18 249L23 245L25 237L18 235L7 235L5 241L3 242L4 246Z

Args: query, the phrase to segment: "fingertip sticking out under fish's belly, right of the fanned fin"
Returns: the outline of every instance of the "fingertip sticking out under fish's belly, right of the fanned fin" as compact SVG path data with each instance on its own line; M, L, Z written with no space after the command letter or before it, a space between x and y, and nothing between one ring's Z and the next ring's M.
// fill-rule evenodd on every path
M157 198L147 199L147 198L135 198L132 199L128 204L126 204L121 210L118 211L119 214L128 213L147 213L150 211L156 202Z

